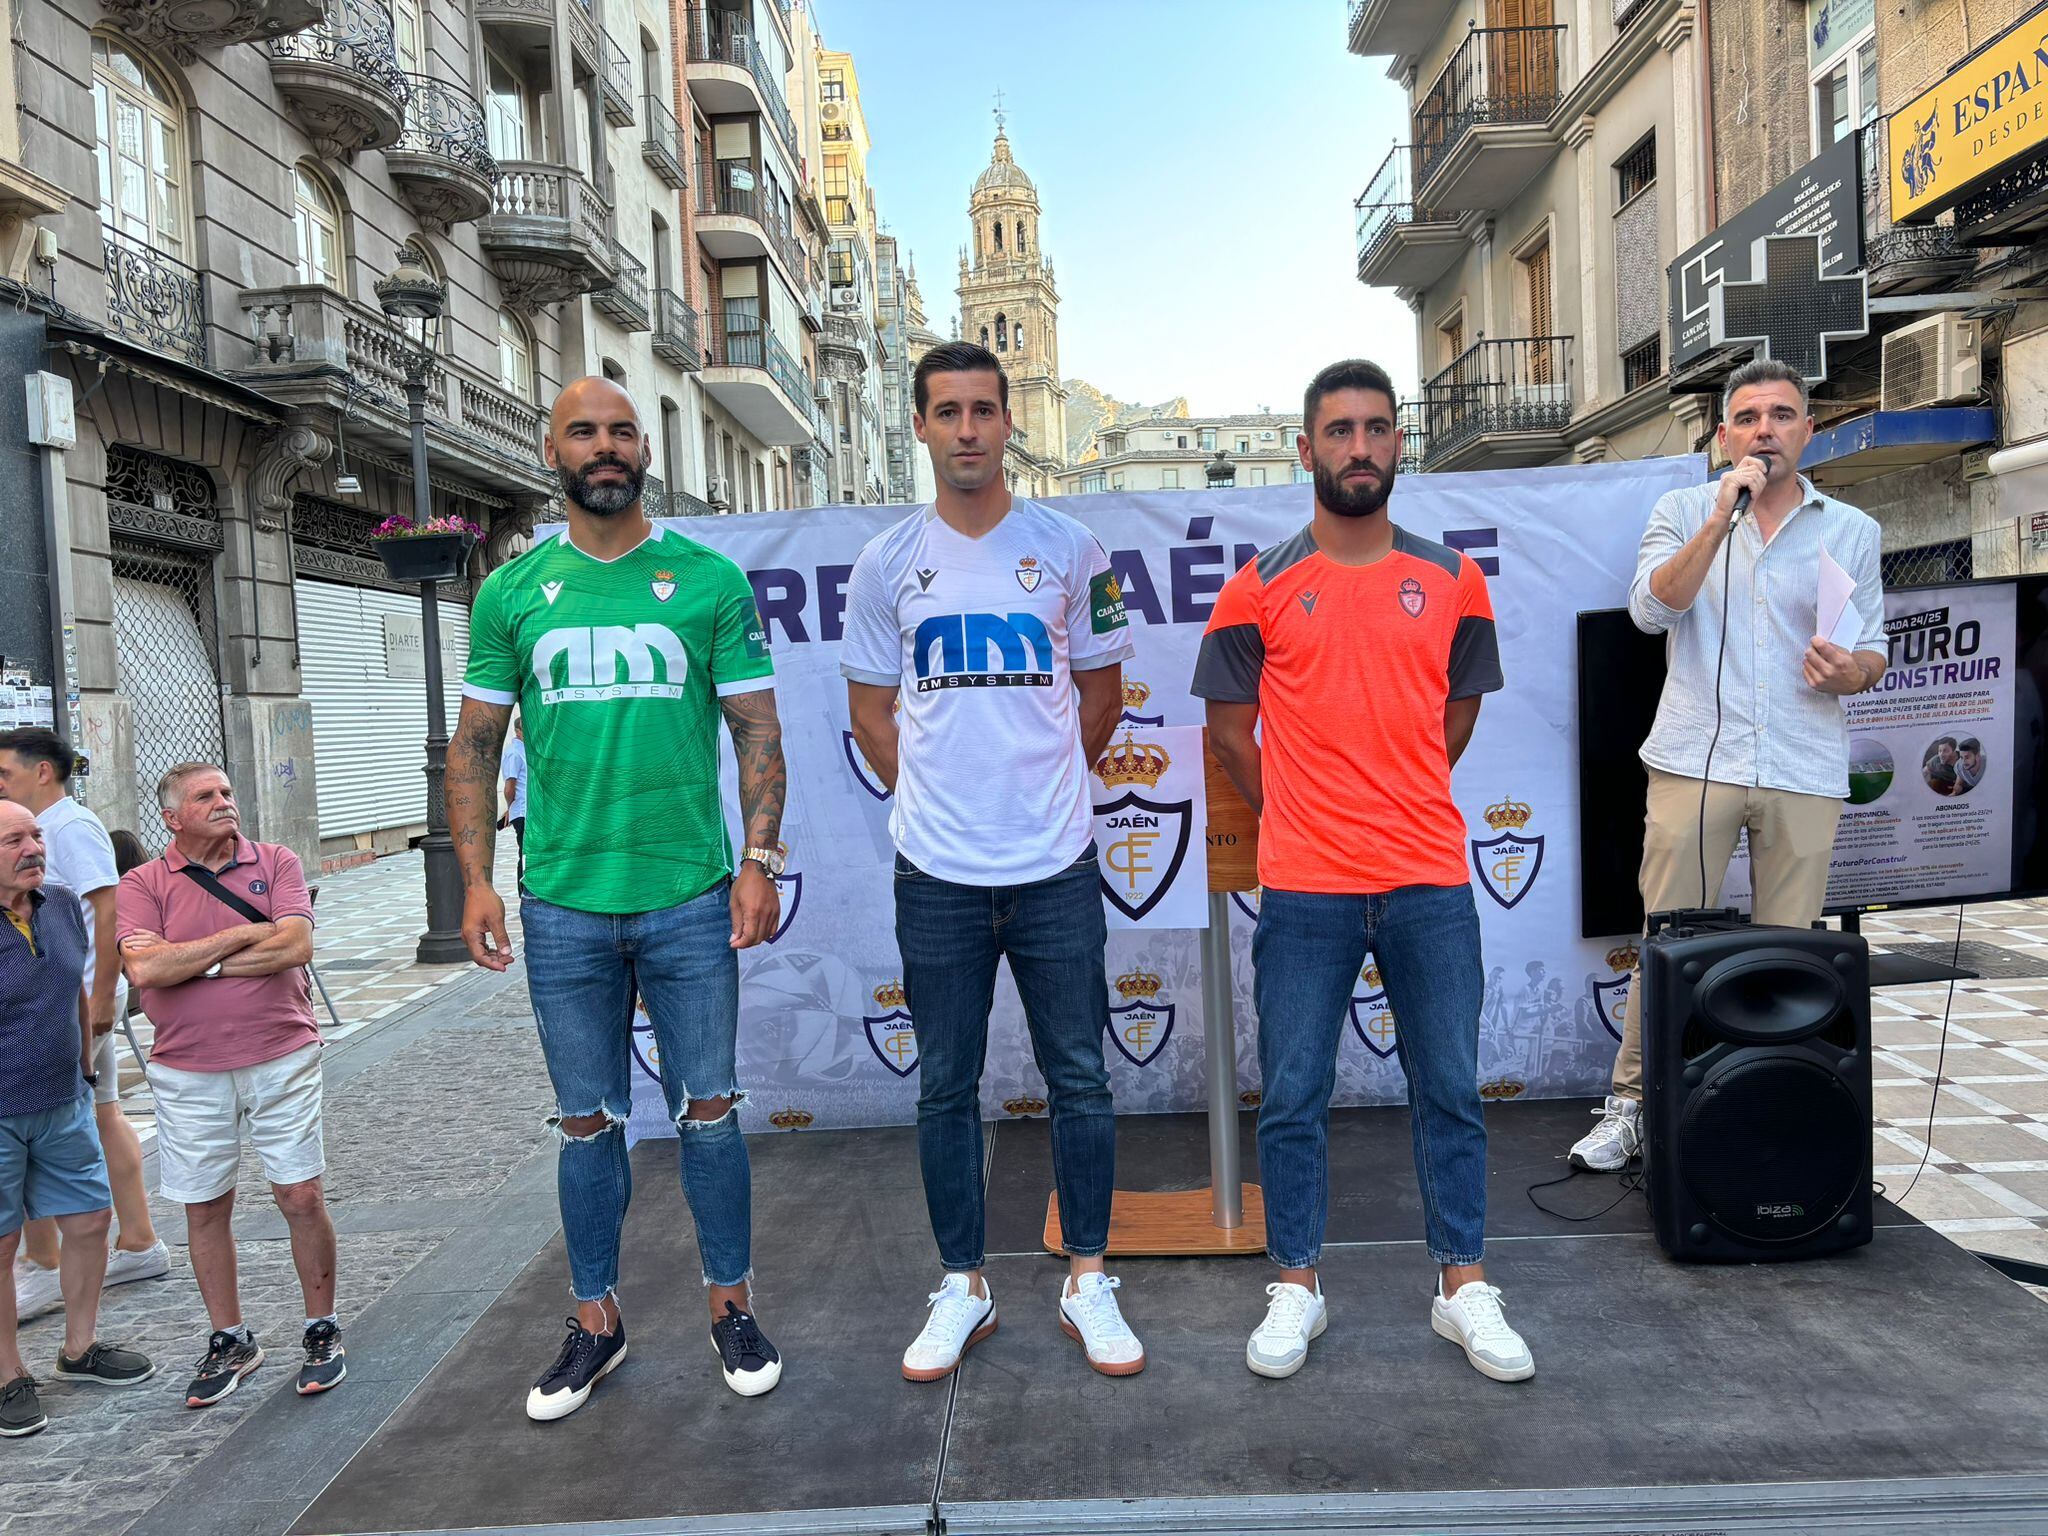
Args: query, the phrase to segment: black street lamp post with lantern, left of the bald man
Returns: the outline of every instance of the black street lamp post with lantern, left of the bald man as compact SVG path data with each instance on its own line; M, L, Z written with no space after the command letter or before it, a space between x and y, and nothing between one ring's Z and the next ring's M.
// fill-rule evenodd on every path
M406 416L412 422L412 520L424 528L432 516L426 479L426 383L434 369L434 338L446 293L412 246L399 248L399 264L377 283L377 303L403 332ZM440 676L440 598L432 580L420 582L420 645L426 651L426 932L420 934L420 965L455 965L469 958L463 944L463 870L455 862L449 836L449 705Z

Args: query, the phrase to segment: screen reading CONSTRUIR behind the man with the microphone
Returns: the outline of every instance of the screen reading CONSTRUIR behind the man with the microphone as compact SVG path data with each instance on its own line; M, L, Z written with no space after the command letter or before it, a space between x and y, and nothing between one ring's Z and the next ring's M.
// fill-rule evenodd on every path
M1827 905L2003 891L2013 866L2015 588L1913 588L1884 596L1890 666L1847 700L1849 799L1835 829ZM1749 905L1749 860L1724 901Z

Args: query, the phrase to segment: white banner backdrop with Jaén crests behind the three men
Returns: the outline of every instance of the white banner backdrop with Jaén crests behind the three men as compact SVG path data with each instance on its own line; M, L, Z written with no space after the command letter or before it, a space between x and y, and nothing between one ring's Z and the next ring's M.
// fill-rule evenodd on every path
M1470 831L1487 999L1479 1077L1489 1098L1604 1092L1626 1008L1630 936L1581 940L1577 870L1575 614L1626 602L1651 504L1698 483L1698 457L1409 475L1395 520L1462 549L1487 573L1505 690L1487 694L1454 774ZM1124 666L1124 723L1200 725L1188 692L1202 625L1225 578L1311 514L1307 485L1102 494L1055 500L1110 551L1137 647ZM791 766L782 838L782 928L739 956L739 1085L750 1130L899 1124L915 1118L915 1038L897 965L889 799L854 745L840 678L846 578L901 506L825 506L670 526L733 557L752 578L776 659ZM1122 733L1118 731L1118 739ZM1634 752L1636 743L1614 743ZM727 754L727 805L737 801ZM1251 926L1257 897L1233 897L1231 981L1237 1081L1255 1102L1257 1014ZM1196 1110L1202 1067L1200 936L1112 926L1110 1085L1120 1112ZM1360 977L1337 1063L1339 1104L1403 1098L1393 1030L1372 967ZM674 1135L649 1038L635 1034L633 1135ZM1042 1114L1024 1016L997 983L981 1087L991 1118Z

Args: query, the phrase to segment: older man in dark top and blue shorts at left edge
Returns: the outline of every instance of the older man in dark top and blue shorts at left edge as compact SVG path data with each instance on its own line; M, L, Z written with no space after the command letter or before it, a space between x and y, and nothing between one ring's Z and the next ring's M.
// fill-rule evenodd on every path
M133 1386L156 1366L92 1337L113 1190L86 1085L86 924L76 895L45 885L43 858L35 815L0 801L0 1276L14 1268L23 1223L55 1219L63 1239L55 1374ZM14 1286L0 1284L0 1436L33 1436L45 1423L14 1337Z

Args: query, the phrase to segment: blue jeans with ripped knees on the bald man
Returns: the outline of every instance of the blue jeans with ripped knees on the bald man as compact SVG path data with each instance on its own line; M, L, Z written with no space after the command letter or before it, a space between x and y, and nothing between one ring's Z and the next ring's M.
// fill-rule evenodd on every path
M662 1094L682 1133L682 1188L696 1223L707 1286L737 1286L754 1239L748 1145L739 1135L733 1036L739 1028L739 956L729 883L664 911L612 915L520 899L526 985L541 1053L555 1083L561 1137L555 1186L578 1300L618 1286L618 1231L633 1198L627 1114L633 1108L633 995L647 1004L662 1053ZM690 1100L731 1098L717 1120L688 1118ZM604 1126L569 1135L563 1120L602 1114Z

